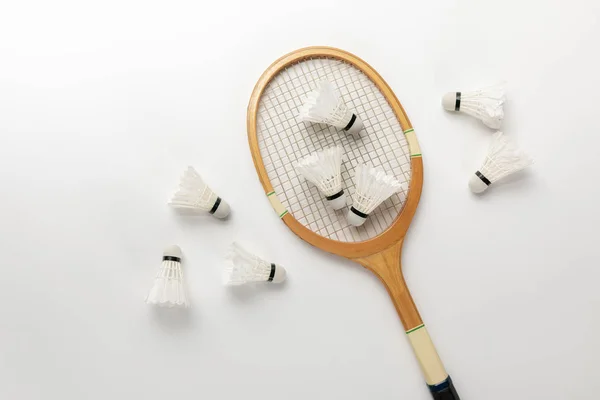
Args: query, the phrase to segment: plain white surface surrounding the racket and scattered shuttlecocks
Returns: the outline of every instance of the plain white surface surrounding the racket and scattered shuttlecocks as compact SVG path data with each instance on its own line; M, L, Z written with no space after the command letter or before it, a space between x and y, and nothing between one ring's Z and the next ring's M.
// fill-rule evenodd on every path
M406 279L463 400L600 390L600 3L4 1L0 399L429 399L382 285L274 215L246 140L254 84L330 45L369 62L416 128L423 197ZM490 131L446 91L505 79L536 164L482 197ZM229 221L166 206L194 165ZM233 240L281 288L221 286ZM193 308L143 299L162 248Z

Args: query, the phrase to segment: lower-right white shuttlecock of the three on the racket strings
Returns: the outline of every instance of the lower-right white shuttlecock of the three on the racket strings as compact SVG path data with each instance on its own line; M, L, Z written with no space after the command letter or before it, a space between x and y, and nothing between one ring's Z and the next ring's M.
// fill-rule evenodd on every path
M348 211L348 223L354 226L361 226L374 209L403 187L393 176L364 164L356 166L354 181L356 192Z

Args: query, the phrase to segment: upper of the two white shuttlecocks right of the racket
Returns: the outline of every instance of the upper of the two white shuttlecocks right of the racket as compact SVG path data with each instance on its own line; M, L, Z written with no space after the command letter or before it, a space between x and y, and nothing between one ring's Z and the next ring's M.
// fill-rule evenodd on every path
M442 97L448 111L460 111L475 117L492 129L499 129L504 118L506 101L504 83L472 92L450 92Z

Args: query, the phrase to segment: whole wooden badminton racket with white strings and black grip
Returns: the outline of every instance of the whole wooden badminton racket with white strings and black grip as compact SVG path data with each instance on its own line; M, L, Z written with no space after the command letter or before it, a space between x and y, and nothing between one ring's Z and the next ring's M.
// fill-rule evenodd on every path
M362 119L359 138L299 120L304 98L322 81L331 82ZM415 131L390 87L348 52L300 49L275 61L260 77L247 124L254 165L277 216L301 239L363 265L383 282L433 398L458 400L402 275L402 244L421 196L423 161ZM347 210L327 207L318 189L295 171L298 160L336 145L345 153L342 180L350 194L348 206L359 163L380 167L406 184L407 189L384 201L360 227L347 223Z

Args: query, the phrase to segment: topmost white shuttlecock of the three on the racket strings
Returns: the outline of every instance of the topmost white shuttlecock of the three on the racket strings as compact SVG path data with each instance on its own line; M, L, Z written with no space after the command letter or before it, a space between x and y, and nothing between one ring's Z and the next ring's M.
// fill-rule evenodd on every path
M358 137L363 128L360 118L348 109L333 84L328 81L320 82L319 87L308 94L300 107L299 116L303 121L333 125L354 137Z

